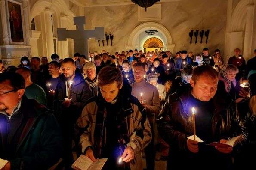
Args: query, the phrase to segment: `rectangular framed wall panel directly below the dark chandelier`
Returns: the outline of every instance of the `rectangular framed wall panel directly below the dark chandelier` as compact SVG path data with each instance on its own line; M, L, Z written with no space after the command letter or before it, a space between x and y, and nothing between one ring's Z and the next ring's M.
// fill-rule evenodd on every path
M151 7L142 8L138 6L138 21L160 21L162 19L162 4L157 3Z

